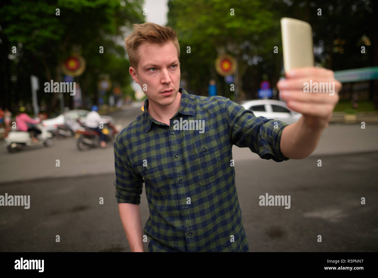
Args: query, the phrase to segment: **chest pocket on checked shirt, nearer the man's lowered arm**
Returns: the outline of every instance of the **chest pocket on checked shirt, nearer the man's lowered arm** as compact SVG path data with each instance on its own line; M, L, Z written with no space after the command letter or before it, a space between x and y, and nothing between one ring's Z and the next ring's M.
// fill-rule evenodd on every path
M167 184L160 160L147 162L147 166L143 166L143 163L141 163L135 168L144 179L147 194L155 196L167 195Z

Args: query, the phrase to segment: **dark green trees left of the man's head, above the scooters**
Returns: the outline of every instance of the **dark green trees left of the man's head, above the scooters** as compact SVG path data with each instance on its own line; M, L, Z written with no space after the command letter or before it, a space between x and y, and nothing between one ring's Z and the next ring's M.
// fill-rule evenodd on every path
M39 99L56 110L57 93L44 93L42 85L45 81L62 81L59 65L73 51L79 51L87 62L85 72L76 79L82 85L83 97L97 99L101 73L126 85L129 79L119 73L128 65L125 49L115 42L122 35L122 26L143 22L142 3L142 0L6 1L0 8L1 60L6 64L1 90L7 94L6 104L30 99L29 76L34 74L40 77ZM17 47L17 54L9 62L7 56L12 46ZM104 47L104 53L99 53L99 46ZM11 76L17 81L12 82Z

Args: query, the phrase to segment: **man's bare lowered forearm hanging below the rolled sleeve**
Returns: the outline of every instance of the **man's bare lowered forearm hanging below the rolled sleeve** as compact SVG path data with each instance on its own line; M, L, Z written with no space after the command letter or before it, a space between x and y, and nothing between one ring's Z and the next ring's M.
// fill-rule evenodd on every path
M142 219L139 205L119 203L118 208L131 252L144 252Z

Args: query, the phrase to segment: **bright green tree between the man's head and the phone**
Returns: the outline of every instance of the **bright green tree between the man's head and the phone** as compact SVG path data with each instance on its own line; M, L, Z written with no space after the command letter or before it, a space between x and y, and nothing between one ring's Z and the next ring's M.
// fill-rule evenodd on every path
M195 88L202 94L208 80L215 77L218 53L231 53L238 61L239 84L254 56L273 53L273 46L268 49L262 45L262 37L270 37L274 26L277 28L273 12L264 8L264 1L174 0L168 5L168 25L181 38L184 71L189 76L203 77L198 77L199 85L206 89ZM270 38L274 41L274 37ZM191 46L190 54L186 46ZM239 89L243 98L242 86Z

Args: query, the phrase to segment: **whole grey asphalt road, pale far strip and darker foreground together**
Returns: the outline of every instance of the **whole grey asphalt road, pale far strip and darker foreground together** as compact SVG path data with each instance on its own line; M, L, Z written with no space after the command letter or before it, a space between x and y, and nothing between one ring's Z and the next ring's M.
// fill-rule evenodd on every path
M112 116L126 125L139 111ZM378 251L377 133L376 125L330 125L313 155L279 163L234 148L250 251ZM16 154L4 149L0 195L30 195L30 208L0 207L0 251L130 251L115 199L112 147L82 153L68 139ZM265 193L290 195L290 209L260 206ZM144 226L144 190L140 207Z

